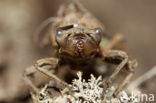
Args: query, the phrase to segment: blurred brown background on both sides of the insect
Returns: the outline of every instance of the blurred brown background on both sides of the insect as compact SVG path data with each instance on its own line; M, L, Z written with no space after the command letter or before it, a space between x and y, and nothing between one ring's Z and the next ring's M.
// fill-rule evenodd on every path
M37 48L33 32L46 18L55 16L68 0L0 0L0 103L24 103L23 71L51 54ZM155 0L80 0L111 34L126 38L130 58L137 59L135 77L156 65ZM156 77L144 92L156 93ZM25 101L27 102L27 101Z

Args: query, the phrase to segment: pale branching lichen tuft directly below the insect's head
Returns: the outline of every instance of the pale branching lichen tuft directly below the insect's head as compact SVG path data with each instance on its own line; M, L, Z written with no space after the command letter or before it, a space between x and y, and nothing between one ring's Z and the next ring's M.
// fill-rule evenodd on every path
M75 96L83 99L83 103L101 103L101 94L103 88L100 87L102 84L102 77L99 76L97 79L91 75L91 78L86 82L82 79L82 73L79 72L78 79L74 79L72 82L72 89L75 92ZM81 101L81 99L79 99ZM80 102L82 103L82 102Z

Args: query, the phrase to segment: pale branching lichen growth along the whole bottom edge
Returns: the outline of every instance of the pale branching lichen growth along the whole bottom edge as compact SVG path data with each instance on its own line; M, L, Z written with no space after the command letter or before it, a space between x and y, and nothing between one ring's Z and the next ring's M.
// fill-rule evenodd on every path
M78 72L77 75L78 79L74 79L72 84L69 85L74 91L72 95L62 94L52 98L46 91L47 85L45 85L41 89L39 96L32 94L34 103L139 103L138 97L133 97L126 91L121 91L114 98L112 94L115 91L115 87L113 86L106 90L102 99L101 76L95 78L94 75L91 75L91 78L86 81L82 78L81 72ZM136 93L139 93L139 91L136 90Z

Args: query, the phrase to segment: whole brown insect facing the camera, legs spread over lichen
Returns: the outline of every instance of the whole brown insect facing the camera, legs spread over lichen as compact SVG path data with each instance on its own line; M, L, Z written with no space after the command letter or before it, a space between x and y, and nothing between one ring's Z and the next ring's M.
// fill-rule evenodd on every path
M103 83L104 89L110 86L111 82L122 69L125 68L128 72L114 92L114 96L116 96L130 81L135 68L134 61L128 59L126 52L113 50L122 40L122 36L115 35L110 39L107 46L101 45L102 38L105 38L103 35L105 31L103 25L77 2L61 6L57 17L49 19L48 23L51 21L53 24L49 38L52 41L52 46L57 50L57 56L55 58L51 57L38 60L32 67L27 68L24 73L27 84L36 93L39 93L39 89L29 79L30 75L39 71L50 77L52 81L57 84L57 87L69 88L66 82L55 75L59 74L61 71L59 69L61 69L60 67L62 65L67 64L71 71L81 70L84 72L84 75L87 75L85 71L89 71L89 73L92 72L90 69L85 69L84 67L91 65L95 58L100 58L103 62L117 65L112 75ZM48 71L49 66L52 72ZM70 76L72 74L70 70L66 71L66 75Z

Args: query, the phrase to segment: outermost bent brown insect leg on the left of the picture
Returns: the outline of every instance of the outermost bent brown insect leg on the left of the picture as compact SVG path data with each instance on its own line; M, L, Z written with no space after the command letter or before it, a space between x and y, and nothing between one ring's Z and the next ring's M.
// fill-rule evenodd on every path
M38 60L34 66L31 66L29 68L26 68L24 71L24 80L27 83L29 87L36 93L39 94L39 89L34 85L34 83L30 80L29 76L36 73L37 67L41 67L44 69L49 69L49 67L45 67L46 65L51 66L52 69L56 68L58 65L58 59L56 58L45 58ZM54 70L55 71L55 70Z

